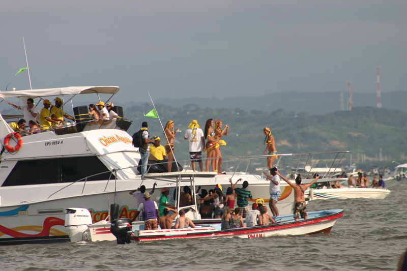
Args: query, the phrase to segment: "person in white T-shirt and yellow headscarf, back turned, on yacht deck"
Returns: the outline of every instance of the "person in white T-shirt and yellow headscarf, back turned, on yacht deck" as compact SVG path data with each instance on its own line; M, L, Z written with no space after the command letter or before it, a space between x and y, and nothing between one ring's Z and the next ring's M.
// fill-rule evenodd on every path
M198 162L200 171L203 171L202 150L205 146L205 137L202 129L199 129L196 119L188 126L184 139L189 142L189 156L191 157L192 169L195 171L195 162Z

